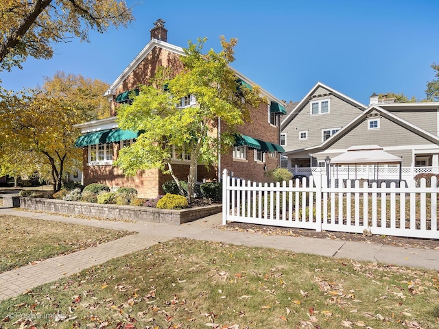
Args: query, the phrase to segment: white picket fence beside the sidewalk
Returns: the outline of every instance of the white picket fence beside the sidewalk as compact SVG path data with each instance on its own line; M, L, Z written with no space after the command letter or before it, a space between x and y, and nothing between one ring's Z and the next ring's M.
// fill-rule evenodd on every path
M268 226L439 239L436 177L427 187L332 180L319 171L302 182L261 184L223 171L223 225L228 221ZM334 187L337 186L337 187ZM353 187L352 187L353 186Z

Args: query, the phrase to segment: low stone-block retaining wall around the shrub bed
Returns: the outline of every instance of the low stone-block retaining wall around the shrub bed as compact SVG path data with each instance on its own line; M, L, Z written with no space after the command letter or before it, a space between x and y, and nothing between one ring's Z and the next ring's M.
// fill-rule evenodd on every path
M16 207L42 212L56 212L67 215L83 215L101 217L104 219L130 219L135 221L150 221L154 223L169 223L180 225L195 221L222 211L222 205L189 208L182 210L167 210L139 206L119 206L115 204L91 204L88 202L72 202L58 199L39 199L32 197L3 196L4 207Z

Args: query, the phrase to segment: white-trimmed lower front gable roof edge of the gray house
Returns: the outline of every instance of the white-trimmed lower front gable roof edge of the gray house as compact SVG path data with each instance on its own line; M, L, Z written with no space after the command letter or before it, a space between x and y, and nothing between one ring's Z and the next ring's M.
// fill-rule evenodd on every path
M300 149L300 151L322 151L324 149L328 149L333 143L336 141L339 141L340 138L343 136L346 136L348 132L350 132L354 127L357 127L361 122L366 120L367 115L370 114L370 112L377 111L381 114L382 117L385 117L386 119L389 119L390 121L393 121L397 125L401 125L401 127L404 127L407 130L410 130L411 132L414 132L414 134L417 134L418 136L421 136L425 138L427 141L439 144L439 137L431 134L430 132L427 132L426 130L423 130L422 128L418 127L417 125L414 125L413 123L410 123L409 121L406 121L404 119L401 119L400 117L396 116L392 112L389 112L388 110L384 110L381 106L371 105L369 106L364 112L361 112L355 119L353 119L350 123L342 127L338 132L333 134L331 138L328 138L326 141L321 143L320 145L313 146L313 147L305 147L304 149ZM289 151L285 152L285 154L293 154L298 152L299 150Z

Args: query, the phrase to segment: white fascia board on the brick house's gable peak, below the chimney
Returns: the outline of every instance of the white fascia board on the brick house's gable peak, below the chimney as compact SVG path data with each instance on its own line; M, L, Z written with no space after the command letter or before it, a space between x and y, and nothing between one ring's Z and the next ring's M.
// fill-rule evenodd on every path
M175 45L171 45L168 42L157 40L157 39L151 39L150 42L147 43L145 47L141 50L141 52L130 62L130 64L126 67L125 70L117 77L115 82L111 84L111 86L106 90L104 93L104 96L108 97L111 95L116 95L116 89L119 88L119 86L122 84L122 82L130 75L130 73L140 64L142 60L145 59L145 57L154 49L154 47L160 47L163 49L166 49L168 51L177 53L178 55L185 55L185 51L183 51L182 47L178 47Z

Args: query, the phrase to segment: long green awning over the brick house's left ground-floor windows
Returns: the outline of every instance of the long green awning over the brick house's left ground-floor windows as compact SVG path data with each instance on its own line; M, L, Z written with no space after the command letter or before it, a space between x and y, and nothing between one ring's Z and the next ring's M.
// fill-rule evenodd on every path
M107 129L100 130L99 132L90 132L88 134L79 136L75 142L75 147L86 147L88 145L127 141L129 139L135 139L139 137L139 134L141 134L141 131L133 132L131 130L121 129Z

